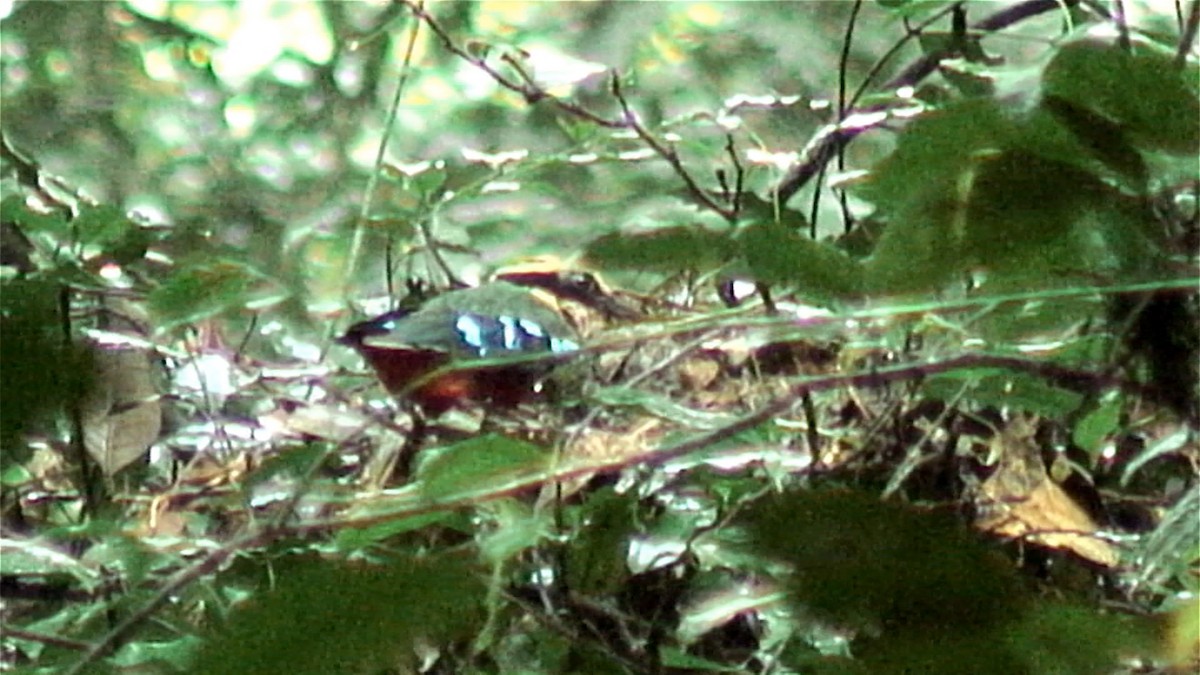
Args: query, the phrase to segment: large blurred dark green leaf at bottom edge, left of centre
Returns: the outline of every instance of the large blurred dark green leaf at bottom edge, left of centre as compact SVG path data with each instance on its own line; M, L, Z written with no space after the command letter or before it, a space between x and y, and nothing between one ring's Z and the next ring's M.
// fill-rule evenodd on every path
M211 631L190 673L362 673L415 659L415 640L462 638L485 587L461 556L388 565L299 558L272 566L275 587ZM415 664L413 664L415 668Z

